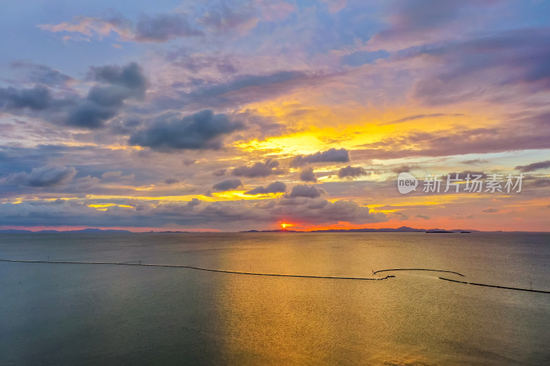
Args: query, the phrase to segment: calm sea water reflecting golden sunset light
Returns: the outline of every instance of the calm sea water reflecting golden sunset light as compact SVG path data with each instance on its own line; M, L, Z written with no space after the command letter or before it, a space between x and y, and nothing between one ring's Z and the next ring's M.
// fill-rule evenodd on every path
M1 365L550 365L550 235L0 234ZM377 277L377 275L375 275Z

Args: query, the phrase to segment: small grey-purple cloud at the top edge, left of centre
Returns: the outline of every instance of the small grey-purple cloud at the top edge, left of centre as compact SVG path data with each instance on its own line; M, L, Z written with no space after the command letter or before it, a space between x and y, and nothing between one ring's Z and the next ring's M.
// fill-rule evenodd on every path
M144 15L135 25L135 41L165 42L177 37L202 36L184 14Z

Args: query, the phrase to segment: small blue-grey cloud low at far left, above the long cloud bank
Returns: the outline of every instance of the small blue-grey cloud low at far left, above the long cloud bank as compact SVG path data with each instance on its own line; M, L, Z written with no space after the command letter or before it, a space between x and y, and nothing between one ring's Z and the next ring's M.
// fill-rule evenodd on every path
M74 167L43 166L34 168L30 173L20 172L11 174L5 181L11 184L26 185L28 187L55 187L72 181L76 175Z

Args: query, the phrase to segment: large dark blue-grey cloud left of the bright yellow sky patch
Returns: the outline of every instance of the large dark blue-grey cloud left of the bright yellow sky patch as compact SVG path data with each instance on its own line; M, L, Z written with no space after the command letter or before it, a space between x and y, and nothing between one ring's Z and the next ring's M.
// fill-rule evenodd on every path
M163 115L144 130L133 133L129 144L167 149L214 149L223 147L223 137L241 130L241 122L231 121L224 114L214 115L211 109L186 117Z

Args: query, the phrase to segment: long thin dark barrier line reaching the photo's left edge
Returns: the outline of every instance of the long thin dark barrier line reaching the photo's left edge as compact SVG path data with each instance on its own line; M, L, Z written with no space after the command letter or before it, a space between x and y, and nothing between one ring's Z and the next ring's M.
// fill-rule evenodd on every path
M253 275L253 276L272 276L272 277L298 277L298 278L326 278L326 279L361 279L364 281L372 280L379 281L381 279L387 279L395 276L386 276L382 278L364 278L364 277L333 277L333 276L308 276L308 275L281 275L276 273L251 273L251 272L238 272L238 271L222 271L220 269L199 268L194 266L180 266L177 264L140 264L137 263L119 263L119 262L59 262L59 261L46 261L46 260L3 260L0 262L17 262L17 263L50 263L50 264L111 264L116 266L146 266L146 267L169 267L169 268L189 268L196 269L198 271L208 271L217 273L232 273L235 275Z

